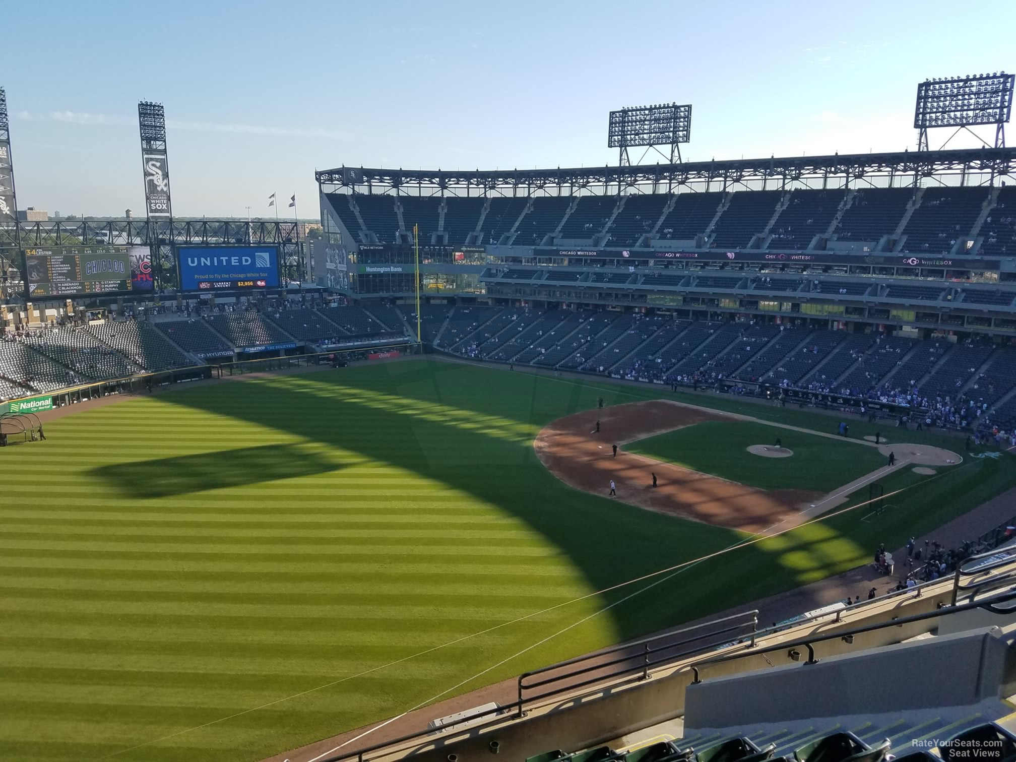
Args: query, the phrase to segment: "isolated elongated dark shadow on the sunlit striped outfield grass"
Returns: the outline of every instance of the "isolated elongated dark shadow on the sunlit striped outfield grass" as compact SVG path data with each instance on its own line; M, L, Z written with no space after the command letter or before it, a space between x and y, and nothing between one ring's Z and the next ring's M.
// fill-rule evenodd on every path
M166 498L278 479L310 477L338 467L313 450L277 444L114 463L92 468L89 475L112 484L127 497Z

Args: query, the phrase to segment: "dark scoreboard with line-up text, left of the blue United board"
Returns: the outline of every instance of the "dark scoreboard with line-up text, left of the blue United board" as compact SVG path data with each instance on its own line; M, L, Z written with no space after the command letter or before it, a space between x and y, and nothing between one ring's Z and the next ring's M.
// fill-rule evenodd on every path
M28 298L151 291L147 246L54 246L24 250Z

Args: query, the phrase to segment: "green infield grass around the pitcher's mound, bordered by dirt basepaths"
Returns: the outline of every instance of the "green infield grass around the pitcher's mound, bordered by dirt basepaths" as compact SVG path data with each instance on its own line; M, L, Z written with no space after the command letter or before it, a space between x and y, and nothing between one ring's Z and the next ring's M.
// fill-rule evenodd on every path
M792 457L753 455L750 445L780 439ZM625 445L625 449L760 490L795 488L829 493L886 464L879 451L851 439L831 439L748 421L706 421Z

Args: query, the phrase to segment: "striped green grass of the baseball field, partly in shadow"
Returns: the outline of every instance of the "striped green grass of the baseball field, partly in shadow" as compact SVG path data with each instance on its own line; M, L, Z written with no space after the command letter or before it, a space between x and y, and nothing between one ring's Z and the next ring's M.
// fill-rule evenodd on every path
M599 593L749 536L576 489L534 449L561 419L587 417L588 438L587 419L658 398L713 409L621 438L632 491L650 461L763 497L884 464L807 410L424 359L47 423L0 451L0 759L262 759L852 568L1016 484L1009 456L900 468L877 520L841 512ZM746 449L776 437L792 456Z

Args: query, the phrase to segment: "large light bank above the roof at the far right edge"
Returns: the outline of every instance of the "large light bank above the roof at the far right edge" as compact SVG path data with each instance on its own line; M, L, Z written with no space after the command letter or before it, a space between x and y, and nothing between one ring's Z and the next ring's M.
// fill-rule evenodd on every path
M977 125L995 125L995 147L1006 144L1006 122L1012 114L1013 82L1016 75L1004 71L993 74L968 74L962 77L926 79L917 85L913 127L917 132L917 150L928 150L928 130L955 127L952 140L966 130L985 145L989 142L971 130ZM946 140L942 147L949 144Z

